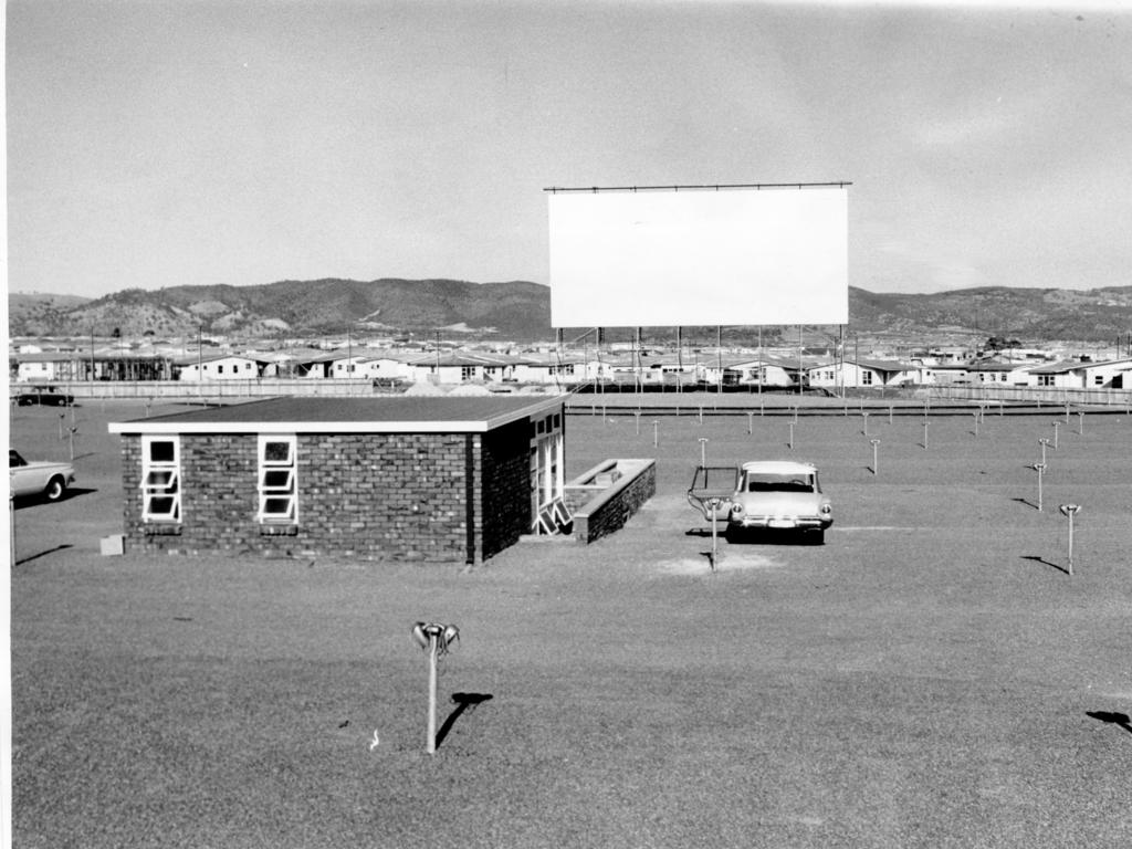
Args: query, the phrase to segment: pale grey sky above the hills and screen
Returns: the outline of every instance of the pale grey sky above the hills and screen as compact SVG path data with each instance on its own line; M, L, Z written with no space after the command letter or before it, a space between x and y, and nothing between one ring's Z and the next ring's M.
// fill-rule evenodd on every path
M874 292L1132 285L1132 11L7 5L8 285L549 283L544 188L849 181Z

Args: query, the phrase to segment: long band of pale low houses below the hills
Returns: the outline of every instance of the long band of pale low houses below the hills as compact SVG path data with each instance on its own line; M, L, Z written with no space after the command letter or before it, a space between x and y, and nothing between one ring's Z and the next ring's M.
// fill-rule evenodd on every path
M275 377L368 379L389 384L535 384L583 383L680 388L891 387L901 385L996 385L1054 388L1132 388L1132 358L1105 361L974 362L874 359L755 357L741 360L693 359L674 354L609 357L514 357L474 351L334 351L314 355L215 353L180 360L153 357L68 353L17 354L12 377L26 383L91 379L175 379L189 383L263 380Z

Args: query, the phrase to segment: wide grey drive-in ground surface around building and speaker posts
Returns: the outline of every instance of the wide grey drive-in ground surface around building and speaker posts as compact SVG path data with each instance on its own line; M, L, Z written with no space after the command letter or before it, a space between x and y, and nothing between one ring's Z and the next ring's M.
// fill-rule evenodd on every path
M17 847L1132 842L1126 415L1061 427L1043 512L1054 411L935 417L927 448L916 417L804 418L794 451L782 417L664 418L654 447L651 420L572 415L568 475L655 456L655 497L466 571L102 557L105 422L144 409L76 413L78 489L15 514ZM67 457L58 411L11 428ZM700 437L709 463L816 462L826 544L721 539L712 574ZM418 619L462 634L431 757Z

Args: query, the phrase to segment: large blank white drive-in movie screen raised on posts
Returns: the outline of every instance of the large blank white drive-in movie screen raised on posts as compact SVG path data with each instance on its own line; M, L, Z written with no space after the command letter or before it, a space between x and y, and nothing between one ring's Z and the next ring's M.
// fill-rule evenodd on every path
M548 199L554 327L849 320L844 187Z

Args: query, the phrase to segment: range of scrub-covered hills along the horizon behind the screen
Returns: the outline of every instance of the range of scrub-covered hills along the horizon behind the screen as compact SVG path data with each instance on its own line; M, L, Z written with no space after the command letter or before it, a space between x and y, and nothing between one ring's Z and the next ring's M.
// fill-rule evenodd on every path
M756 293L753 293L756 294ZM1132 329L1132 286L1088 291L989 286L934 294L849 288L849 329L923 336L969 333L1022 342L1110 341ZM550 338L550 290L538 283L324 278L250 286L127 289L97 299L9 295L12 336L152 332L272 336L362 333ZM689 328L689 337L695 334ZM711 335L711 334L709 334ZM731 334L728 334L729 336Z

